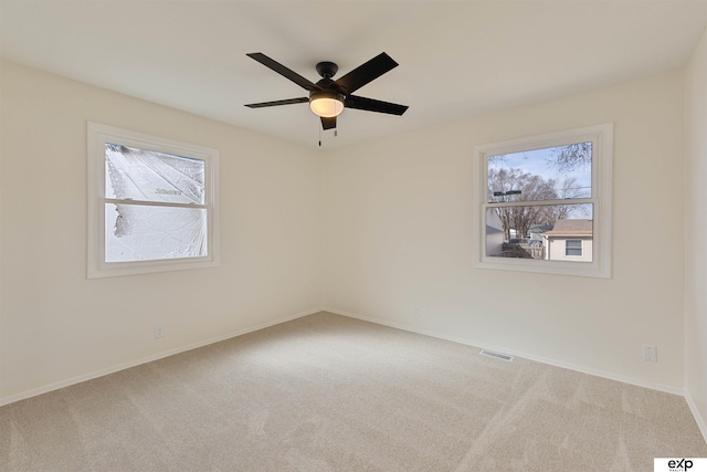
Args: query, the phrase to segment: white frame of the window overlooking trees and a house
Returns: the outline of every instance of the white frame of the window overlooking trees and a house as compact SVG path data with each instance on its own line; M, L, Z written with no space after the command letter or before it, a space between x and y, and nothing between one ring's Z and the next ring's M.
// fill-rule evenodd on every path
M570 202L593 204L592 262L528 260L486 255L485 214L487 208L492 207L487 201L488 157L587 141L592 141L591 198L573 199ZM476 190L472 195L474 268L611 279L612 123L474 146L473 159L473 169L476 174L474 176ZM524 203L526 206L568 204L568 200L529 201Z

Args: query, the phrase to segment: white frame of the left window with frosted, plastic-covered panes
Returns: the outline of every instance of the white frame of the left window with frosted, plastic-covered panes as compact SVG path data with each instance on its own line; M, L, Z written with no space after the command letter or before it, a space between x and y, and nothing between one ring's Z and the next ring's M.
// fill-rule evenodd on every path
M204 204L207 210L207 255L150 261L106 262L105 196L106 144L183 156L204 161ZM220 265L219 150L145 133L87 122L88 239L87 277L145 274L151 272L203 269Z

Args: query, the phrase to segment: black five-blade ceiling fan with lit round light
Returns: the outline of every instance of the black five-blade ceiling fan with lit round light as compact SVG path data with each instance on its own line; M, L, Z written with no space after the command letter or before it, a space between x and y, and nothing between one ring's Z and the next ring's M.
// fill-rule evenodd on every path
M317 73L321 75L321 80L316 84L285 67L281 63L273 61L263 53L254 52L246 55L266 67L272 69L285 78L289 78L292 82L309 92L308 97L251 103L245 105L247 107L263 108L266 106L292 105L295 103L308 102L312 112L321 118L321 127L324 129L336 128L336 117L344 112L344 108L365 109L367 112L388 113L398 116L402 115L408 109L407 105L398 105L394 103L351 95L363 85L398 66L398 63L384 52L359 65L336 81L331 77L336 75L339 66L334 62L319 62L316 65L316 70Z

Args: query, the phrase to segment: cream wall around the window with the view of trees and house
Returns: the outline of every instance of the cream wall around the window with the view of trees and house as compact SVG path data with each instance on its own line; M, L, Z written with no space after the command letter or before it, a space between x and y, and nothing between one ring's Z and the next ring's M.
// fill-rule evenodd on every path
M473 146L608 122L613 277L473 269ZM335 151L325 306L682 391L682 156L680 72ZM656 228L675 238L656 240ZM642 359L644 344L658 363Z

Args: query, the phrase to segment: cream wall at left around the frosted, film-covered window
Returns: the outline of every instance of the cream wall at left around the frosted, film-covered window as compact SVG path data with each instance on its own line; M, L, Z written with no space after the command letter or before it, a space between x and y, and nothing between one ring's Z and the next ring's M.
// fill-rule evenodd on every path
M320 310L318 154L1 65L0 405ZM86 120L220 149L220 268L86 279Z

